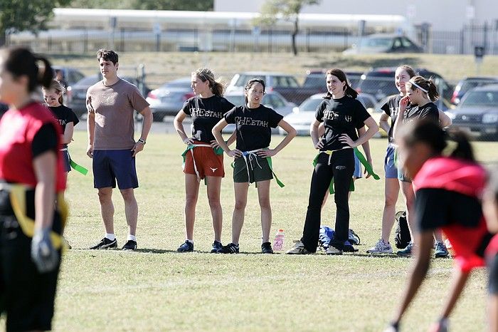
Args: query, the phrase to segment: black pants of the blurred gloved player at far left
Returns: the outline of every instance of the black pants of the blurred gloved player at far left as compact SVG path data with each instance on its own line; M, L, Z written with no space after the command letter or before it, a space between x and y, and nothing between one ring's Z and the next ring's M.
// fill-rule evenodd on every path
M31 238L12 216L0 216L0 312L6 331L51 330L60 268L40 274L31 260Z

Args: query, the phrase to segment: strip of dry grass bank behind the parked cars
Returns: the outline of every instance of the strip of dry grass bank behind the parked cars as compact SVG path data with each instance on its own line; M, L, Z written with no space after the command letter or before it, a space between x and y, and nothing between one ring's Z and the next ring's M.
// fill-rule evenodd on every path
M97 73L95 52L86 55L52 56L60 66L80 68L87 75ZM370 67L400 66L430 68L447 81L456 83L465 76L476 76L474 56L441 54L374 54L344 56L341 53L187 53L187 52L142 52L120 53L121 73L134 74L134 68L143 63L147 73L146 82L151 88L181 76L189 76L196 68L211 68L216 77L230 81L234 73L241 71L281 71L304 76L308 69L343 68L364 71ZM129 67L133 68L129 68ZM498 76L498 56L485 56L480 66L480 75Z

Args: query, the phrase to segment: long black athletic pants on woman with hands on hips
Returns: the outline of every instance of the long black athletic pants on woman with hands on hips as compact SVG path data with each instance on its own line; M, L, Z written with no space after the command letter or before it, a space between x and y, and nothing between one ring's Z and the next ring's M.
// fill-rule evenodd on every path
M317 251L320 223L322 222L322 203L334 177L334 202L336 203L336 224L334 239L330 245L344 249L349 230L349 186L354 173L354 150L344 149L332 152L332 156L321 153L314 167L309 202L304 222L301 242L307 251Z

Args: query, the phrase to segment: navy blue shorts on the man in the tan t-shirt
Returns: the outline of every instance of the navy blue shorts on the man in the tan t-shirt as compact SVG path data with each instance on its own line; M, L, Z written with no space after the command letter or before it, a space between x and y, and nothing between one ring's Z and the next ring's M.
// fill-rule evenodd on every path
M93 186L116 187L120 190L137 188L137 168L130 150L95 150L93 152Z

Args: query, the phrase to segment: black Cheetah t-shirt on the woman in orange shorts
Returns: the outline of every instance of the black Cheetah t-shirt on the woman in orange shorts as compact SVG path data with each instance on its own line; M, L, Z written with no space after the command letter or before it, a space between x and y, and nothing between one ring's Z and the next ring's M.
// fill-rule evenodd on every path
M201 142L214 140L213 127L223 115L233 108L233 104L219 95L209 98L195 97L186 100L181 110L192 118L192 137Z

